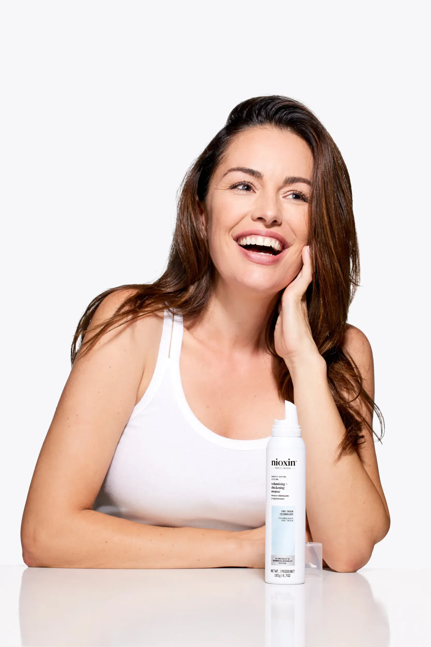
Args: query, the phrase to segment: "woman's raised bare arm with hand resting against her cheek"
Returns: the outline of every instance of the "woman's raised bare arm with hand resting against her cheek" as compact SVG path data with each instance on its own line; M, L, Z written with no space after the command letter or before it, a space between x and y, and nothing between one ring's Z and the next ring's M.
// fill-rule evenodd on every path
M368 562L375 543L388 532L388 506L377 469L372 434L339 459L346 435L328 383L326 361L311 333L306 291L313 280L310 247L302 248L302 267L282 294L275 325L275 349L284 358L293 383L302 437L306 444L306 502L311 536L322 543L323 558L335 571L357 571ZM373 355L368 339L354 326L342 340L374 398ZM350 393L346 393L351 397ZM373 410L363 398L352 405L372 424Z

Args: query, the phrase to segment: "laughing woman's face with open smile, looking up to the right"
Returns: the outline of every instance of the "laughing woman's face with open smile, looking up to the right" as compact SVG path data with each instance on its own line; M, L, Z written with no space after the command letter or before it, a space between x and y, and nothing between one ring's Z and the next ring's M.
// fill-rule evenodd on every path
M273 127L239 133L201 205L209 251L228 284L276 294L298 274L308 241L313 155Z

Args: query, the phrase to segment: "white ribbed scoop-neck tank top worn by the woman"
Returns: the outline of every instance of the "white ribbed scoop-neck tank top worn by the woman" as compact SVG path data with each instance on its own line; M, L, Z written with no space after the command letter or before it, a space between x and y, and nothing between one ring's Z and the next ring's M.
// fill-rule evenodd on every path
M165 311L154 374L93 509L158 526L257 528L265 523L269 437L225 438L196 418L181 384L182 336L182 316Z

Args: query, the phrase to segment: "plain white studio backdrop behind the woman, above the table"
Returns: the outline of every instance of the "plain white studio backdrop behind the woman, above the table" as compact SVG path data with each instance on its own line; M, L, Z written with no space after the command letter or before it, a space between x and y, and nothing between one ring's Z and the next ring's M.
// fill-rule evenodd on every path
M428 514L429 105L425 3L0 4L3 327L0 563L90 300L154 280L185 170L241 100L285 94L350 171L377 446L392 514L369 566L420 567ZM377 421L376 421L377 422ZM412 561L410 561L412 560Z

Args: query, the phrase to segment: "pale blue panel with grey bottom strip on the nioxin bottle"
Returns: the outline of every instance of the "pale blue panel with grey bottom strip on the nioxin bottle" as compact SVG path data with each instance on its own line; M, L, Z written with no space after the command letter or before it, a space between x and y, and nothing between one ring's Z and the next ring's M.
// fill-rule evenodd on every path
M271 565L295 566L295 509L271 506Z

